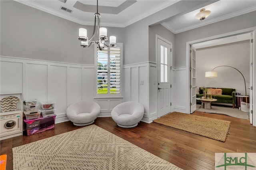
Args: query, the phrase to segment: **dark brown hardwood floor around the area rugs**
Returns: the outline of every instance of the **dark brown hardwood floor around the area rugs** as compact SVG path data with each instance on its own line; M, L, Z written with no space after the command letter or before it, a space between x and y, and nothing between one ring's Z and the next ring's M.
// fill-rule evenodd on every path
M194 112L193 115L231 121L226 142L157 123L140 122L134 128L120 128L111 117L101 117L97 118L94 124L184 170L214 170L214 154L216 152L256 152L256 127L250 125L248 120L198 111ZM1 140L1 154L7 154L6 169L12 170L13 147L77 128L81 127L75 127L68 121L56 124L53 130L32 136L23 135Z

